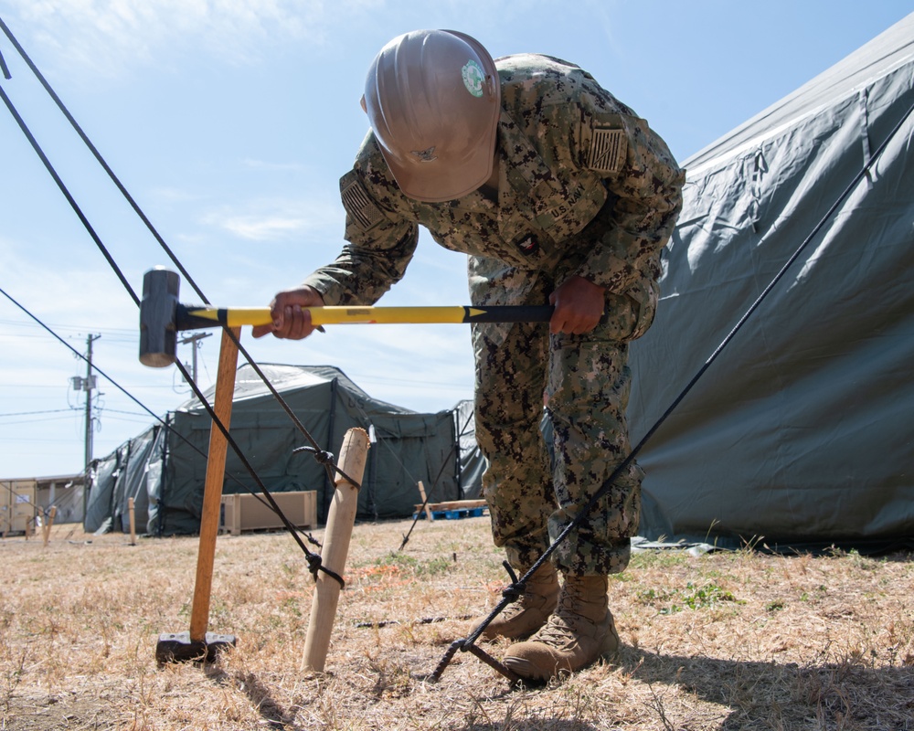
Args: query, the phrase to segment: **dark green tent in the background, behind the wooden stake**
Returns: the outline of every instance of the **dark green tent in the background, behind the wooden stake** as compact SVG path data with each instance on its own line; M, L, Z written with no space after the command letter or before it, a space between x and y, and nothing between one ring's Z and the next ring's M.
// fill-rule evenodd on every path
M399 518L420 503L422 481L432 502L476 497L483 458L473 437L472 407L420 414L367 395L332 366L260 365L297 418L324 450L336 453L348 429L373 437L362 490L359 520ZM212 402L215 388L206 396ZM126 504L136 501L136 523L152 535L199 530L206 478L205 454L211 419L195 400L98 461L93 471L86 530L129 530ZM236 377L230 431L260 480L271 492L317 491L324 522L333 484L310 446L250 365ZM228 450L223 492L259 493Z

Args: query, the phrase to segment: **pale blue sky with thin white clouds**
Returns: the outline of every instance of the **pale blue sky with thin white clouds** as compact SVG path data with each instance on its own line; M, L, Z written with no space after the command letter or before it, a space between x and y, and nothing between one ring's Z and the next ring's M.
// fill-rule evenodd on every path
M680 162L908 15L878 0L0 0L0 17L207 298L260 305L332 260L339 176L367 130L371 59L420 27L477 37L494 56L547 53L590 70ZM167 264L107 175L0 34L5 92L133 289ZM0 106L0 288L134 397L164 414L189 389L137 361L136 307L5 106ZM196 300L186 283L182 297ZM423 237L381 304L464 304L465 260ZM242 342L260 362L337 365L417 410L471 397L462 325L338 326ZM191 359L190 345L179 347ZM216 376L218 337L198 349ZM80 471L85 365L0 296L0 478ZM94 455L153 419L101 378ZM329 445L330 449L334 445Z

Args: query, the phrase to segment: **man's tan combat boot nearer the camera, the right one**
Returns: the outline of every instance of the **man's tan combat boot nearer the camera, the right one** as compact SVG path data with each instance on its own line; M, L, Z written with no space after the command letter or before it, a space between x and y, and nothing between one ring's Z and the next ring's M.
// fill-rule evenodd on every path
M505 666L527 680L575 673L619 649L607 609L606 577L566 576L558 609L526 642L508 648Z

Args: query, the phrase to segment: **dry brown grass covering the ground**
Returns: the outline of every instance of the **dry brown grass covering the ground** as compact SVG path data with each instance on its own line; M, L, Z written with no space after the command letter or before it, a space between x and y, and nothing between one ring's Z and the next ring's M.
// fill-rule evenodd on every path
M423 521L399 553L409 522L356 525L321 674L299 672L313 581L288 535L219 538L209 628L239 642L206 668L154 661L187 629L196 538L7 538L0 728L914 729L907 555L641 554L611 580L616 664L515 689L458 652L430 683L505 583L487 523Z

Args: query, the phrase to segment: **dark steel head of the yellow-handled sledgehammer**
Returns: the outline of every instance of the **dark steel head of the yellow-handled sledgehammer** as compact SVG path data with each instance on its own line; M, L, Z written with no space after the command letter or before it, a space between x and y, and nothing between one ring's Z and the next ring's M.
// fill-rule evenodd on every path
M175 363L177 351L177 272L155 267L143 275L140 302L140 363L164 368Z

